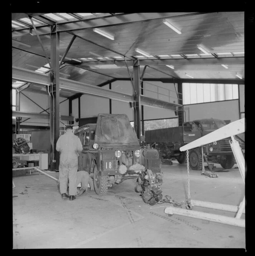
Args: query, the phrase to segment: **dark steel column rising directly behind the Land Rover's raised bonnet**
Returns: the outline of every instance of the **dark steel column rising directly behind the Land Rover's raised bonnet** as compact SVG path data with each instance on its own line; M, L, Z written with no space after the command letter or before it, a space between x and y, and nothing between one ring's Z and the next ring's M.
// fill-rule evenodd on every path
M133 82L134 82L134 129L137 138L141 137L141 87L140 87L140 66L137 61L133 66Z

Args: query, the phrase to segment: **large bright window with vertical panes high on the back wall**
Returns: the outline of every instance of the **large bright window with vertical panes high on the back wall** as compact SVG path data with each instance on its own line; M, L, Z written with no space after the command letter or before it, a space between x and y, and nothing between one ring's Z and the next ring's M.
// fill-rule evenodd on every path
M183 83L183 104L238 99L238 84Z

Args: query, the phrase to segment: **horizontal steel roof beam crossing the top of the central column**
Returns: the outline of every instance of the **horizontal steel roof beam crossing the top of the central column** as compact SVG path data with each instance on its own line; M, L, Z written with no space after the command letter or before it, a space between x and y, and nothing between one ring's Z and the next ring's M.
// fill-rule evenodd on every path
M127 60L128 66L133 66L132 60ZM84 61L82 65L117 65L126 66L124 60L100 60L100 61ZM162 60L139 60L139 65L215 65L215 64L244 64L244 57L220 57L220 58L192 58L192 59L162 59Z

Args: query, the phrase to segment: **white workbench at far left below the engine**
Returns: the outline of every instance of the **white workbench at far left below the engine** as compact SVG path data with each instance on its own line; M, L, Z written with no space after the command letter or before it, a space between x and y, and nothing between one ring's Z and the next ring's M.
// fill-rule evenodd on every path
M31 174L31 169L35 169L36 167L38 167L41 170L48 170L48 154L12 154L12 157L19 157L22 161L39 161L39 166L13 168L13 171L30 169Z

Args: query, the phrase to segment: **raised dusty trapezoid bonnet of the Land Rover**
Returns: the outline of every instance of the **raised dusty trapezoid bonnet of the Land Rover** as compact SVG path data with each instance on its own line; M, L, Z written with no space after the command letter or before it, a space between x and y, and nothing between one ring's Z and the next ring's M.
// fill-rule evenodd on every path
M139 141L126 114L98 114L94 143L139 147Z

